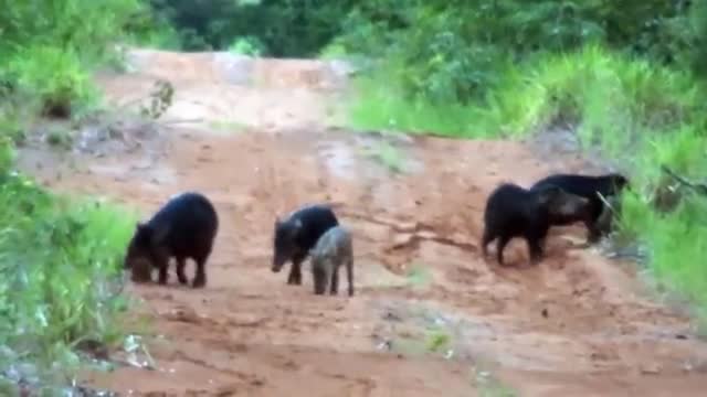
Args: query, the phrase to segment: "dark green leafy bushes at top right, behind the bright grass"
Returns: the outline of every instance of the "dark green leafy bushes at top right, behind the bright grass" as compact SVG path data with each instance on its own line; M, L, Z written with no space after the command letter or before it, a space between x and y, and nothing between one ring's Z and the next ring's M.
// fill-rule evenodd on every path
M700 69L707 7L683 1L432 1L356 6L335 42L383 58L407 99L468 104L503 83L504 71L588 44ZM704 68L703 68L704 69Z

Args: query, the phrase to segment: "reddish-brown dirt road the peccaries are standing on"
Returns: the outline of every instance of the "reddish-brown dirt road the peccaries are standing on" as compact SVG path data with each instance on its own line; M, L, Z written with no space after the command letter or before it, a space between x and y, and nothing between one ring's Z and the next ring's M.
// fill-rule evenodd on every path
M173 124L131 153L76 154L78 165L27 150L23 167L144 217L198 190L222 226L205 289L179 287L173 273L168 288L130 286L163 335L150 344L157 369L122 367L93 384L141 396L446 397L498 391L489 373L521 396L707 389L707 348L687 319L645 298L631 266L574 247L567 237L581 242L583 229L552 232L535 268L482 259L488 192L587 170L577 155L549 162L518 142L336 128L345 79L323 62L139 51L133 63L137 72L101 76L109 98L168 78L165 118L203 120ZM293 287L287 268L270 270L275 215L320 201L354 230L354 298L314 297L308 272ZM521 265L525 249L513 242L508 260Z

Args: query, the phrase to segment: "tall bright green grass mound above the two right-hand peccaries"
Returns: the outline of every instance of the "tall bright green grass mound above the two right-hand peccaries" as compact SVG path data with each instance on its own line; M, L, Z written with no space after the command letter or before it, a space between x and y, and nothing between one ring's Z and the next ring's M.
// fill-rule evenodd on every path
M703 117L701 88L692 74L601 46L541 55L504 72L477 109L478 124L503 135L563 121L580 126L583 142L600 140L616 154L646 131Z

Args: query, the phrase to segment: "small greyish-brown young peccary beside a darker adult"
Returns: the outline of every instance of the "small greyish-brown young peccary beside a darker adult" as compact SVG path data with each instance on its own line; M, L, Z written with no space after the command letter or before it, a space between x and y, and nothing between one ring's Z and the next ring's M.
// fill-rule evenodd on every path
M314 293L324 294L329 286L329 294L339 292L339 268L346 266L349 297L354 296L354 244L351 233L344 226L331 227L319 237L312 248L312 279Z

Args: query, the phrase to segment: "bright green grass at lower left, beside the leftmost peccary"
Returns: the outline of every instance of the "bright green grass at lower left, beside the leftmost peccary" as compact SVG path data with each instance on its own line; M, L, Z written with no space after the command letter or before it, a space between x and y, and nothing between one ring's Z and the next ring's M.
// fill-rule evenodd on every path
M120 258L137 216L52 194L15 173L2 179L0 365L23 365L41 383L63 385L80 368L75 343L123 337Z

